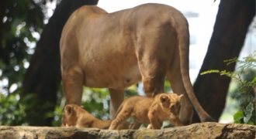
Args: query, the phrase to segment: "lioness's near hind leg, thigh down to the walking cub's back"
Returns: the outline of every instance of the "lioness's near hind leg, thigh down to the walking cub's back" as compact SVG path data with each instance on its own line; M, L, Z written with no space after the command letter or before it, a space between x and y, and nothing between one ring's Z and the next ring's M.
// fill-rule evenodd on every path
M164 78L171 62L171 30L166 22L149 22L141 29L137 43L137 60L147 97L164 92Z

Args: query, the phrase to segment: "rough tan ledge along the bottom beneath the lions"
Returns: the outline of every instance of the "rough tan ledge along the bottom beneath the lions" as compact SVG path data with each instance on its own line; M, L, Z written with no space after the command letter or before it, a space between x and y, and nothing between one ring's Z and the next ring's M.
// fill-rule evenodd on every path
M223 139L254 139L256 126L247 124L219 124L219 123L199 123L184 127L171 127L162 130L122 130L108 131L95 128L75 128L75 127L26 127L26 126L0 126L1 139L71 139L71 138L223 138Z

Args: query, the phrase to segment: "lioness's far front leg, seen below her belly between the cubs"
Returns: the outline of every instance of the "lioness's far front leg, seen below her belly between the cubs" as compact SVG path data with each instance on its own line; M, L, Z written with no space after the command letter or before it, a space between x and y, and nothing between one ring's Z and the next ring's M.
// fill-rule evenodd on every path
M124 90L115 90L109 88L109 95L110 95L110 109L109 109L109 117L115 116L116 110L119 108L121 103L124 100Z

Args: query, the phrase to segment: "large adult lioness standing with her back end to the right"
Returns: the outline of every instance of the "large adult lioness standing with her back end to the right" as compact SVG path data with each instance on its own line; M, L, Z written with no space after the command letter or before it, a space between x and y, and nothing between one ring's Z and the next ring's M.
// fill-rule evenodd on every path
M84 86L109 88L110 115L124 89L142 80L147 97L164 91L168 77L182 93L179 118L190 124L192 105L202 122L213 121L202 109L189 79L189 25L177 9L145 4L107 13L95 5L78 8L61 34L61 71L67 103L80 105Z

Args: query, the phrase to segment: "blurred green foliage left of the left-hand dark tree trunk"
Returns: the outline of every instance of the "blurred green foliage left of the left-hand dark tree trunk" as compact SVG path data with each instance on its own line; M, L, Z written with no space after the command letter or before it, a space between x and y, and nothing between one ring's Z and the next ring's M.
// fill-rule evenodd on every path
M29 59L43 31L47 0L6 0L0 33L0 124L26 125L23 117L32 96L20 96ZM1 26L1 25L0 25ZM32 102L33 104L33 102Z

